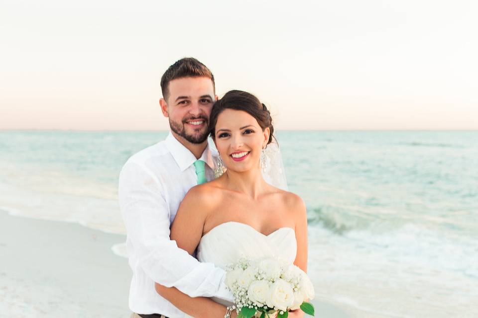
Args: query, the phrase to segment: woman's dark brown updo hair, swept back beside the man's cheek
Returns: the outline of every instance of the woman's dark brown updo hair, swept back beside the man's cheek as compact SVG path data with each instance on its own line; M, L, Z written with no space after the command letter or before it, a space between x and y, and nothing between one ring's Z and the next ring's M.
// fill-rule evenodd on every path
M270 112L257 97L242 90L230 90L223 96L223 98L218 99L214 103L211 115L209 116L209 131L213 140L216 139L216 124L218 123L219 114L225 109L245 111L257 120L262 131L269 127L270 135L267 145L272 142L272 138L274 138L274 126L272 126Z

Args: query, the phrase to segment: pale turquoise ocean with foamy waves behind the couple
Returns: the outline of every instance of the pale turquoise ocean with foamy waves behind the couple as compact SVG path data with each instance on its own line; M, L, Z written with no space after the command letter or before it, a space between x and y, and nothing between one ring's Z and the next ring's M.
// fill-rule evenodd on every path
M124 234L121 166L166 135L2 131L0 210ZM318 298L370 317L478 317L478 132L277 139L307 205Z

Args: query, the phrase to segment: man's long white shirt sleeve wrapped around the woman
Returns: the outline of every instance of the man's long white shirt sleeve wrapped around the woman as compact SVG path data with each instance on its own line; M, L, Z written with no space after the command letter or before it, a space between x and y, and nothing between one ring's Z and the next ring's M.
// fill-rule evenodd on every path
M138 265L153 281L176 287L191 297L232 301L225 287L225 271L202 263L169 239L169 206L157 176L127 162L119 176L119 206Z

